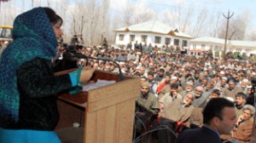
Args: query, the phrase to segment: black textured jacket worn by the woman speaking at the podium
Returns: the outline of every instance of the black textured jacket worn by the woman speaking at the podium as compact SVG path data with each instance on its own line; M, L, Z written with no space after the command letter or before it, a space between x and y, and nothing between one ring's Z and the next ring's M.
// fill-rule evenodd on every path
M20 92L19 121L1 118L3 129L54 130L59 121L57 93L71 89L68 75L55 76L51 60L35 58L17 70Z

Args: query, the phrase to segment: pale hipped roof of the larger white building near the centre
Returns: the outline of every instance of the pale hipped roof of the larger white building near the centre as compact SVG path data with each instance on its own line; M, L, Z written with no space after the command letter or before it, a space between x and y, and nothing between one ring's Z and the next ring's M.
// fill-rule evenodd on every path
M154 32L154 33L160 33L165 35L170 34L173 31L174 36L192 38L188 34L177 31L177 29L174 29L171 26L167 26L166 24L156 20L151 20L151 21L140 23L137 25L126 26L123 28L116 29L114 31Z

